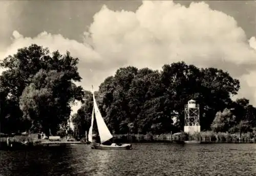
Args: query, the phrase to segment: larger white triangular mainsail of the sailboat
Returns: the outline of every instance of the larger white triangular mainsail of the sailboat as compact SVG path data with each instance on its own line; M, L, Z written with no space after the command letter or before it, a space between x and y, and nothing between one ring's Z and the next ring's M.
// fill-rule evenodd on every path
M103 143L111 138L113 138L112 134L110 133L108 127L106 127L106 123L104 122L99 108L97 106L94 92L93 92L93 104L94 104L94 111L95 111L95 117L96 117L96 123L99 131L99 137L100 137L100 143Z

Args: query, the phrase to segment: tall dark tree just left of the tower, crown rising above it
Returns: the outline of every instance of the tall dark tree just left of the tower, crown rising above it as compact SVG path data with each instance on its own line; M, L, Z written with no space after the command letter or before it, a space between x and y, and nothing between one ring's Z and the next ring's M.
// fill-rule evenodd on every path
M201 72L194 65L187 65L185 62L165 64L161 71L161 82L169 99L169 107L178 112L177 125L184 125L184 105L201 92ZM196 100L198 100L196 98Z

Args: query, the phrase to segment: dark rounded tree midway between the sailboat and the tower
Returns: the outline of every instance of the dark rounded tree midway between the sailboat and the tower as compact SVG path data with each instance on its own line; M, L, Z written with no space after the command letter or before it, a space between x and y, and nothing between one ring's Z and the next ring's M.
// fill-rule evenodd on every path
M168 96L164 93L158 70L140 69L129 95L131 121L135 121L140 133L172 130L172 107L168 107Z

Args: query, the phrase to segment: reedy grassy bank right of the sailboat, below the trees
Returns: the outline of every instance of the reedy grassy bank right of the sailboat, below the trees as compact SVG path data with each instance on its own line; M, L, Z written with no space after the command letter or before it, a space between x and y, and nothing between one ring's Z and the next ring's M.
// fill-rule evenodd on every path
M142 135L142 134L116 134L116 142L181 142L181 141L201 141L202 143L255 143L256 135L253 133L229 134L214 133L211 131L195 133L193 135L180 133L178 135Z

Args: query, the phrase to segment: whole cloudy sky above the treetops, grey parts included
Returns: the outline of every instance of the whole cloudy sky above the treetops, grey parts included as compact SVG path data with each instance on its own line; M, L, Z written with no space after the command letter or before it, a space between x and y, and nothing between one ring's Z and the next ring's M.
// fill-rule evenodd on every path
M0 1L0 13L1 58L31 43L68 50L85 89L121 66L185 61L227 70L256 106L255 1Z

